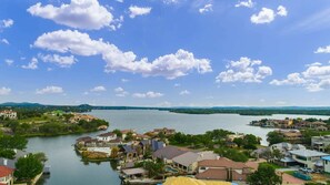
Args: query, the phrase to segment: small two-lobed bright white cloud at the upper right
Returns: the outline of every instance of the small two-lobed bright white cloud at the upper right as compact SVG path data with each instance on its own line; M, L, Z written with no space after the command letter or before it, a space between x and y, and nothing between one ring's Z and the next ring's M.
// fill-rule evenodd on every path
M287 9L283 6L279 6L278 12L274 12L272 9L262 8L258 14L252 14L250 20L252 23L263 24L272 22L277 16L287 17Z

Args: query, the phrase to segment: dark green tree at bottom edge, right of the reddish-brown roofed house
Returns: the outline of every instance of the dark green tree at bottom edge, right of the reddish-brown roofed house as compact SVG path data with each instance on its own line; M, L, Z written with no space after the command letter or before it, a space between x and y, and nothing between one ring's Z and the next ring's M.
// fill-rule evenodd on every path
M264 163L260 164L258 171L248 176L247 182L250 185L280 185L282 178L276 174L276 169Z

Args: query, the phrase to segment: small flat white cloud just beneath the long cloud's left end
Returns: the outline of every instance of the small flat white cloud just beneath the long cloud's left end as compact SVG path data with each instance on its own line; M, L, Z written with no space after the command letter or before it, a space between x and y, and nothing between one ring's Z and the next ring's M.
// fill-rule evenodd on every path
M38 58L43 62L54 63L60 68L70 68L77 62L77 59L73 55L61 56L59 54L38 54Z

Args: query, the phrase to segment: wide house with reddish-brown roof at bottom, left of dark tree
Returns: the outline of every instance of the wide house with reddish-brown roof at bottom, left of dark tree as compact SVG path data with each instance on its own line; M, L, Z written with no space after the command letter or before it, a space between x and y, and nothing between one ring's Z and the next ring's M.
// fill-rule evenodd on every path
M204 160L198 163L198 179L212 181L247 181L251 173L244 163L233 162L226 157Z

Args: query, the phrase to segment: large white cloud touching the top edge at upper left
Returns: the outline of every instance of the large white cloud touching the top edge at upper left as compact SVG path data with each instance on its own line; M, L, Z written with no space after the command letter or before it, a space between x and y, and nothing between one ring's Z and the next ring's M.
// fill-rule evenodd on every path
M28 12L59 24L86 30L100 30L110 27L113 21L113 16L98 0L71 0L70 4L63 3L61 7L43 7L38 2Z

